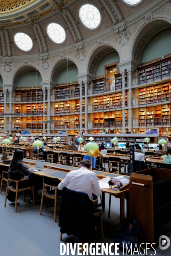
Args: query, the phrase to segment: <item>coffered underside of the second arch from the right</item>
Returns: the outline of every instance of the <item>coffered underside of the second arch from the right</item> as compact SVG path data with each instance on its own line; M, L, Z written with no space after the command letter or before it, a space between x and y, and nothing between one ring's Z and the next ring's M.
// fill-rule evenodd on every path
M106 57L109 54L112 53L118 53L119 58L121 60L121 54L119 53L118 50L116 50L113 46L109 45L109 44L103 44L99 47L96 47L96 49L94 49L90 56L88 56L88 63L87 63L87 73L91 74L92 76L96 76L96 70L97 67L99 65L99 63L101 62L101 60Z

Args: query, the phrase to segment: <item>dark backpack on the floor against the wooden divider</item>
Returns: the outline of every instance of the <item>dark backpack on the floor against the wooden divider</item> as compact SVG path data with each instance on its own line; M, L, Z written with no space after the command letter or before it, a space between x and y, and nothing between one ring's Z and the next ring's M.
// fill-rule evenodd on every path
M138 235L138 232L139 226L137 221L132 217L125 218L125 220L121 222L116 231L114 242L119 243L120 250L123 250L123 247L125 249L126 244L129 250L132 244L133 250L137 242L136 237Z

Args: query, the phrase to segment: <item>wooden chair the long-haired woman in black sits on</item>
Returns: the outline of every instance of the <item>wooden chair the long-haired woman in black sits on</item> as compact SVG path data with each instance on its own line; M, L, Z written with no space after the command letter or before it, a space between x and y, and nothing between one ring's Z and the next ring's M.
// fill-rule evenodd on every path
M15 192L15 212L17 212L18 193L23 191L23 201L25 202L25 190L30 190L30 189L32 189L33 205L35 206L34 186L25 187L22 189L18 188L19 183L22 181L25 181L25 180L28 180L28 178L21 179L20 174L14 173L14 172L8 172L8 180L7 180L7 186L6 186L6 196L5 196L4 207L6 207L6 199L7 199L8 192L9 192L9 190L11 190L12 192ZM14 188L13 186L10 186L10 182L16 183L16 188Z

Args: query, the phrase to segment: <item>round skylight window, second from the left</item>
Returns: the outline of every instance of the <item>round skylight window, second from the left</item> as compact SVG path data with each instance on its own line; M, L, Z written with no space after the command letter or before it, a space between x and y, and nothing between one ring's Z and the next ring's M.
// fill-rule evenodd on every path
M56 23L51 23L47 26L49 38L55 43L61 44L66 38L65 30Z

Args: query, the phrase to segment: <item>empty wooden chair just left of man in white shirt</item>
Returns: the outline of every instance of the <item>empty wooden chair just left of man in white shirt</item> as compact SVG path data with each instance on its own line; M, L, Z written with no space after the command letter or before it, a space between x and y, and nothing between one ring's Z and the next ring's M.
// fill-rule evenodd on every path
M40 209L40 214L42 212L42 207L43 207L43 196L47 198L51 198L55 200L55 210L54 210L54 222L56 222L56 204L58 200L58 205L60 203L60 198L61 196L57 196L57 189L58 189L58 184L60 183L60 180L58 178L53 178L53 177L48 177L48 176L43 176L43 190L42 190L42 197L41 197L41 209ZM44 191L46 186L46 191ZM50 191L48 191L48 188L54 188Z

